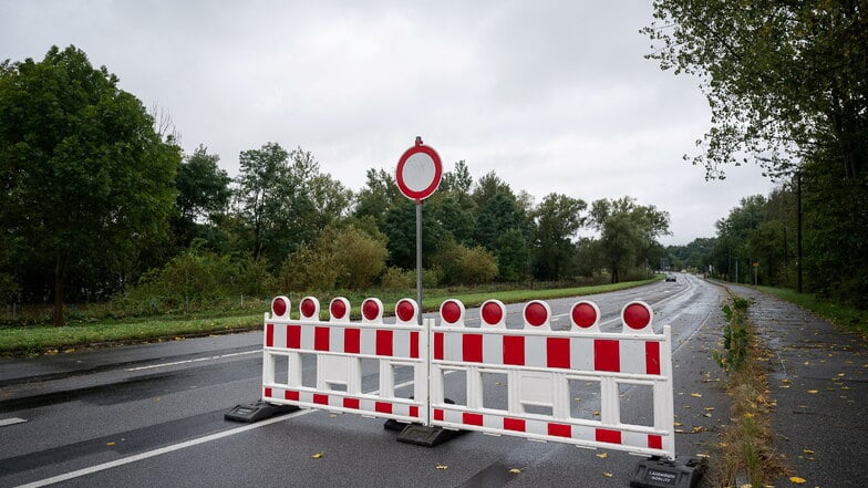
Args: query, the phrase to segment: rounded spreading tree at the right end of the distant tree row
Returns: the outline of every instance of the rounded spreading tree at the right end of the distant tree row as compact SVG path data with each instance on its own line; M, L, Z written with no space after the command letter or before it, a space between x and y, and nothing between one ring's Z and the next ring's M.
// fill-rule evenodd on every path
M617 283L623 271L651 266L655 239L669 233L669 212L630 197L601 199L591 205L590 224L600 232L597 252Z

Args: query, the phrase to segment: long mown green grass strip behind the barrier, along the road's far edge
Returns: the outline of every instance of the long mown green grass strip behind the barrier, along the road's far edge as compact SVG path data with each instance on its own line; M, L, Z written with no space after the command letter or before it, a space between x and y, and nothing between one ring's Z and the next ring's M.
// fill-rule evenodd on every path
M424 311L436 311L440 309L441 303L448 298L458 299L465 307L472 308L478 307L484 301L490 299L497 299L504 303L520 303L530 300L582 297L639 287L659 281L661 277L657 277L643 281L554 290L468 291L458 293L450 292L448 290L436 290L425 292L423 295L422 309ZM296 297L297 295L293 294L293 301L298 300ZM300 295L298 297L300 298ZM406 294L404 297L413 298L413 294ZM401 298L403 297L381 298L388 314L394 310L395 303ZM349 299L353 305L351 316L361 316L361 299ZM322 318L327 319L328 302L323 303L323 309L326 310L322 310ZM232 316L155 316L135 320L91 321L87 323L73 323L61 328L55 328L50 324L4 326L0 328L0 355L9 356L68 352L80 347L249 331L262 326L262 316L267 311L268 304L265 304L264 309L258 313L236 314ZM290 316L297 318L298 312L293 312L294 313L291 313ZM207 313L200 313L199 315L207 315Z

